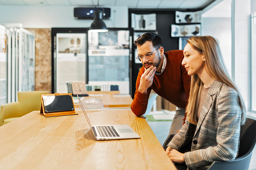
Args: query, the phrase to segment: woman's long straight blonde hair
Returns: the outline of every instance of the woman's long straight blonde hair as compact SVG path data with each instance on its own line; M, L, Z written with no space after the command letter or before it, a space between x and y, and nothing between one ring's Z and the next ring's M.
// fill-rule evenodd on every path
M242 111L241 124L244 124L246 118L246 109L242 96L233 80L230 78L225 64L223 62L220 47L217 41L211 36L191 37L188 40L191 47L205 57L206 71L216 80L223 82L237 91L240 99L240 107ZM197 112L199 105L199 95L203 83L197 74L191 77L191 88L188 105L186 108L187 120L193 124L197 124Z

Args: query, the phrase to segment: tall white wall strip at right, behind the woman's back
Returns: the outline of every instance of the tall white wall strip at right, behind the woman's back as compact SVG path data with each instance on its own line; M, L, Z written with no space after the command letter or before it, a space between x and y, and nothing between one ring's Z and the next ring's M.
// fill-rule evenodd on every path
M250 1L235 2L235 83L240 88L243 100L248 104L248 62L250 58ZM241 8L242 7L242 8Z

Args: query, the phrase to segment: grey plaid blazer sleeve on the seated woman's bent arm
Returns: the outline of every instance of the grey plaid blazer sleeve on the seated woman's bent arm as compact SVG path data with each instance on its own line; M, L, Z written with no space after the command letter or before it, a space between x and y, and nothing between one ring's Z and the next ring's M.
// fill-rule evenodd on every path
M226 91L217 96L216 106L214 103L212 105L212 107L216 107L218 121L216 127L217 145L186 152L184 154L185 162L191 169L210 165L215 160L233 160L237 156L241 123L238 94L233 89Z

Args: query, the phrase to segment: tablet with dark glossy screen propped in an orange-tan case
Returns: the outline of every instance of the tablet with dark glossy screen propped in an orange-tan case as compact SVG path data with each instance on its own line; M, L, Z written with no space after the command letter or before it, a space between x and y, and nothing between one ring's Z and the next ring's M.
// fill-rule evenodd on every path
M45 113L74 110L71 95L43 96L43 103Z

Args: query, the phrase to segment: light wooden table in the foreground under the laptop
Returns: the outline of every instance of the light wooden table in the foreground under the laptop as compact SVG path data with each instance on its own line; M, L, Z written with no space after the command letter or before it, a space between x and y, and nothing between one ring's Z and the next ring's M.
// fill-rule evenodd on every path
M95 140L82 111L33 111L0 127L0 169L176 169L144 117L131 110L88 111L92 124L128 124L140 139Z

